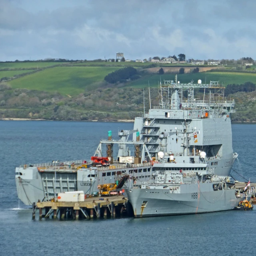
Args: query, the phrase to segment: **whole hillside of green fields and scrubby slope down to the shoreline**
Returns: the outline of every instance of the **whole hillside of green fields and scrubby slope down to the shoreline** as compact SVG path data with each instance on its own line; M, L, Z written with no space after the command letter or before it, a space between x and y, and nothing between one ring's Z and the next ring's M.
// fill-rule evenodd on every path
M38 64L42 64L38 67ZM0 76L12 77L0 83L0 118L42 118L48 120L117 120L134 119L143 112L143 90L151 89L151 103L158 105L158 82L174 80L175 73L163 75L149 63L141 62L82 62L82 63L4 63L10 70L0 71ZM54 65L51 65L54 64ZM26 66L26 67L25 67ZM36 66L36 68L35 68ZM134 66L138 79L108 84L104 77L124 66ZM170 65L164 66L174 72ZM194 66L191 67L195 68ZM202 68L202 67L200 67ZM20 70L23 69L23 70ZM25 70L24 70L25 69ZM209 69L209 67L204 70ZM238 70L237 70L238 71ZM32 73L31 73L32 72ZM148 73L150 72L150 73ZM219 81L220 84L256 83L256 73L245 70L208 70L199 73L178 74L178 81L194 83ZM124 82L123 82L124 81ZM233 90L234 92L234 90ZM145 95L148 93L146 92ZM198 94L198 98L202 95ZM256 92L230 94L236 100L237 112L232 121L256 121ZM146 109L149 108L145 97Z

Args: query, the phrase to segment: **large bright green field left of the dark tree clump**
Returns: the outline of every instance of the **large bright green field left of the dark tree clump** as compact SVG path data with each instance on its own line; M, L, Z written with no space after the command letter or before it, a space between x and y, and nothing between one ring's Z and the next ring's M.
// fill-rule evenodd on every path
M86 87L93 89L94 82L103 81L104 77L119 67L56 67L48 68L14 79L9 82L12 88L26 88L60 92L76 95L84 92Z

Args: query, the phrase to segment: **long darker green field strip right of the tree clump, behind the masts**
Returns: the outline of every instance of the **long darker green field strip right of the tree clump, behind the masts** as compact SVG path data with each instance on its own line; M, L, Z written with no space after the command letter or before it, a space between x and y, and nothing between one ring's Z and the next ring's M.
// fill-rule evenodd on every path
M174 74L163 74L161 75L162 82L164 80L174 80ZM189 83L191 80L194 83L201 79L202 83L210 83L210 81L219 81L220 84L226 86L227 84L243 84L244 82L256 83L256 74L252 73L235 73L235 72L200 72L196 74L180 74L178 75L178 81L180 83ZM160 82L160 75L149 75L144 76L141 79L132 81L127 86L145 88L148 87L148 81L150 87L158 86Z

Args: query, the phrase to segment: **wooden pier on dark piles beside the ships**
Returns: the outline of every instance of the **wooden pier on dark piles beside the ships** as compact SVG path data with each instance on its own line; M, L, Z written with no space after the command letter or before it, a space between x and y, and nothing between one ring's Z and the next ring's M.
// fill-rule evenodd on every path
M84 202L37 202L33 203L32 219L39 210L39 220L53 219L96 219L130 216L131 206L124 196L92 197ZM44 214L43 214L44 213Z

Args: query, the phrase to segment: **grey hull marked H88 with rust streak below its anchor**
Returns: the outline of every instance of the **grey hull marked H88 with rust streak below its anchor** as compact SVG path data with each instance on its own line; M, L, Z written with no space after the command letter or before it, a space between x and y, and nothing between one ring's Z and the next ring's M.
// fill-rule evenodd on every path
M135 218L232 210L241 200L236 198L234 190L191 190L175 194L169 190L126 189L126 193Z

